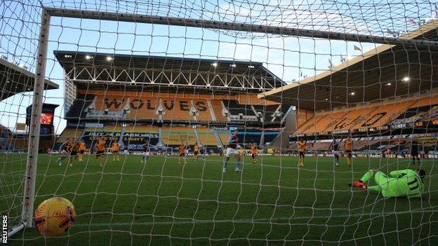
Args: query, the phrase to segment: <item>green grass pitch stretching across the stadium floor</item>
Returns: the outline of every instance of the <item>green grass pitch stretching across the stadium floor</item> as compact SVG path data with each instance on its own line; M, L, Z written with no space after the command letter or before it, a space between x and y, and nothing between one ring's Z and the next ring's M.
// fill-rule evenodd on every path
M384 172L411 167L408 160L263 156L243 172L234 159L225 174L222 158L178 165L176 156L107 156L103 168L93 156L83 163L40 155L35 207L62 196L77 210L75 225L60 238L44 238L28 228L11 245L438 245L438 174L436 160L424 160L425 193L421 199L384 199L351 189L366 170ZM263 163L263 165L261 165ZM1 157L0 211L21 211L25 156ZM16 193L15 201L10 196ZM13 204L13 205L11 205ZM14 214L15 213L15 214Z

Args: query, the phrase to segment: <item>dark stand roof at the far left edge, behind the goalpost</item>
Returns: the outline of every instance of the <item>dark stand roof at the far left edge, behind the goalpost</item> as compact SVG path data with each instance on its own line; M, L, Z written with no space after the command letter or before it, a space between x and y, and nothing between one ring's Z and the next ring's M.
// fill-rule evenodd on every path
M0 59L0 101L18 93L34 90L34 81L35 74L7 60ZM44 90L58 88L58 84L46 79Z

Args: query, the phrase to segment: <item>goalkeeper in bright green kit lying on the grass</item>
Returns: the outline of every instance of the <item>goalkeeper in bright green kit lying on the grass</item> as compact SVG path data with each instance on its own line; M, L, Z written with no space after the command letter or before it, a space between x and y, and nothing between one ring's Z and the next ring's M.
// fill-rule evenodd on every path
M378 170L369 170L359 179L359 181L348 184L349 186L360 188L364 191L381 192L385 198L407 196L417 198L423 193L423 177L426 175L424 170L396 170L390 172L390 177ZM369 179L374 178L376 186L366 186Z

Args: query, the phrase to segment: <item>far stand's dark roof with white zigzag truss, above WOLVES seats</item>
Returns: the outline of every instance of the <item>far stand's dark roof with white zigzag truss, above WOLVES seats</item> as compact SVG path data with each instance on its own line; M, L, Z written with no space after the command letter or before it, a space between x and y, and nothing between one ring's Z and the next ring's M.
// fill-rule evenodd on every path
M260 62L55 50L78 88L123 90L272 90L286 85ZM108 83L110 82L110 83ZM225 86L226 85L226 86ZM166 89L168 88L168 89Z

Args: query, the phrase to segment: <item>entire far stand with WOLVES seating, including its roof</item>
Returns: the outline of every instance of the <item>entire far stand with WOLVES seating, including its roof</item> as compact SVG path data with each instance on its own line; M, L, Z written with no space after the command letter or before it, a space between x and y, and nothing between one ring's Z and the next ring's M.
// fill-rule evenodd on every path
M211 72L212 62L220 62L227 66L215 67L215 72L218 69L224 69L223 73L232 71L234 74L241 73L239 76L247 76L248 66L251 67L251 76L258 73L263 74L263 81L269 82L270 86L277 88L284 86L285 83L280 78L274 76L270 71L263 67L263 64L251 62L237 61L208 61L208 60L192 60L180 59L172 57L152 57L152 56L126 56L114 55L113 64L105 62L107 54L93 54L93 61L98 62L90 67L86 57L88 53L78 53L69 51L54 51L56 58L60 62L66 74L71 74L74 69L112 69L115 65L124 68L128 62L135 60L135 65L132 69L138 69L147 74L148 69L159 69L168 67L168 71L177 71L178 80L183 80L187 75L192 74L192 66L195 65L199 69L199 64L202 64L202 69L206 72ZM73 59L72 59L73 58ZM102 60L100 60L102 59ZM131 64L131 63L130 63ZM255 69L257 68L257 69ZM131 69L131 67L130 67ZM255 69L255 70L252 70ZM88 71L87 70L87 71ZM151 70L152 71L152 70ZM120 71L121 72L121 71ZM129 72L129 71L128 71ZM78 74L77 74L78 75ZM196 93L191 86L180 85L175 91L173 83L182 81L167 81L169 76L160 77L159 83L172 83L172 86L150 85L150 87L142 87L135 83L126 83L123 78L128 78L126 72L121 72L119 77L112 79L109 88L102 88L100 85L90 84L90 74L81 73L71 84L69 90L74 92L76 97L72 97L71 107L67 108L67 121L70 125L79 125L87 123L103 124L103 127L86 128L85 138L92 145L95 137L104 136L114 137L123 136L123 142L126 142L126 134L138 133L142 135L154 135L154 138L159 142L158 135L161 134L161 142L165 146L178 146L180 142L189 142L190 145L199 140L205 146L212 146L211 149L223 147L230 137L230 127L246 125L249 128L260 128L260 125L270 124L269 127L281 128L279 121L282 116L290 109L290 105L281 105L278 102L270 100L258 99L257 93L260 93L260 88L242 93L239 89L240 83L232 81L232 89L225 89L223 86L213 86L203 89L197 88ZM144 76L144 81L151 79L153 74ZM192 74L193 75L193 74ZM111 74L99 74L98 80L108 81ZM198 78L200 75L194 76ZM137 81L142 81L143 76ZM193 77L192 77L193 78ZM93 78L94 79L94 78ZM122 79L123 84L119 84ZM201 78L193 83L203 83ZM204 79L204 78L202 78ZM262 79L262 77L260 77ZM192 83L192 82L190 82ZM214 80L213 83L222 83L220 79ZM260 84L263 86L263 84ZM121 90L123 86L123 90ZM225 86L226 87L226 86ZM213 92L213 93L212 93ZM80 123L79 123L80 120ZM96 122L97 121L97 122ZM114 124L114 121L116 122ZM126 124L125 127L121 123ZM145 125L147 124L147 125ZM192 128L193 125L198 125L197 130ZM170 125L170 126L169 126ZM201 127L203 125L206 128ZM84 126L80 126L84 128ZM221 129L221 130L214 130ZM250 132L241 133L240 142L255 139L257 144L260 141L266 143L272 141L277 135L276 131L267 131L265 135L261 134L261 130L251 130ZM155 140L154 140L155 141ZM263 143L262 143L263 144ZM165 147L161 146L160 147Z

